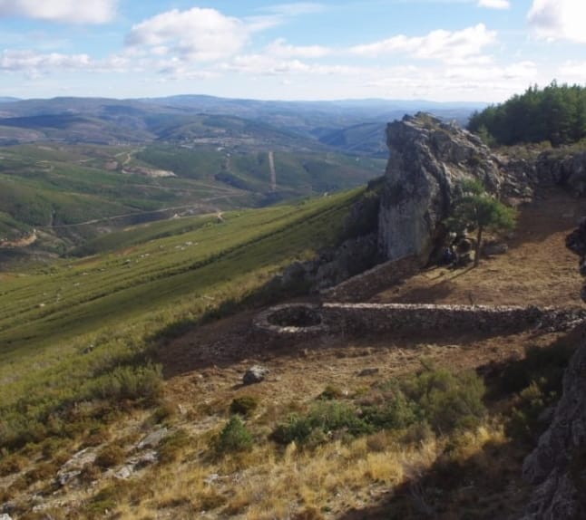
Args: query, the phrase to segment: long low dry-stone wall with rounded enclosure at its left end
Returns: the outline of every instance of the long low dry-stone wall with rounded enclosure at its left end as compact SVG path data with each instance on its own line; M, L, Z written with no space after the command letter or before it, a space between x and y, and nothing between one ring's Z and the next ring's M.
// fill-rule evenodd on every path
M299 323L302 307L313 316ZM315 316L319 316L317 323ZM278 337L329 333L380 332L521 332L533 328L567 330L586 321L586 309L554 309L511 305L436 305L425 303L293 303L272 307L257 316L258 331Z

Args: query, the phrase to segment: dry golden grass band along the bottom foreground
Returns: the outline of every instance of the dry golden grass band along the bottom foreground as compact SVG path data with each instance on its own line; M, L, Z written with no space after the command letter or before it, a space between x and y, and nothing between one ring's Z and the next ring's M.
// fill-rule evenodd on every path
M502 429L484 425L459 438L450 457L466 460L484 445L504 441ZM282 452L264 445L217 464L196 457L145 478L141 486L148 486L149 493L140 504L124 503L118 512L123 518L164 517L172 511L176 518L206 512L209 518L268 520L315 510L319 517L336 518L345 510L376 503L405 479L424 475L444 449L445 441L435 438L408 447L387 438L386 448L372 451L368 438L358 438L311 451L294 443ZM483 469L490 465L484 457Z

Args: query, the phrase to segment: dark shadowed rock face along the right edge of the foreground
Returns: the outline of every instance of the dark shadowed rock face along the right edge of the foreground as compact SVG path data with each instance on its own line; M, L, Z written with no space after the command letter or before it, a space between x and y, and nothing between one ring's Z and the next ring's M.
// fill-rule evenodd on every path
M566 240L580 255L586 275L586 219ZM586 286L582 288L586 301ZM571 358L563 394L549 429L523 464L523 477L536 485L523 520L586 518L586 341Z

